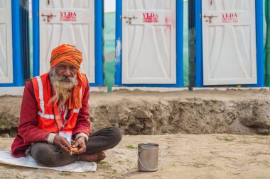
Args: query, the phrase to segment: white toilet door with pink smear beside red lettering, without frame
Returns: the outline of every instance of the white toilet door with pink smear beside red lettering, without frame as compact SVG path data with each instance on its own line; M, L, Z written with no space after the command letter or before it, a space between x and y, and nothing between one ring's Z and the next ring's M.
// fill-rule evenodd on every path
M175 0L122 0L122 83L176 83Z

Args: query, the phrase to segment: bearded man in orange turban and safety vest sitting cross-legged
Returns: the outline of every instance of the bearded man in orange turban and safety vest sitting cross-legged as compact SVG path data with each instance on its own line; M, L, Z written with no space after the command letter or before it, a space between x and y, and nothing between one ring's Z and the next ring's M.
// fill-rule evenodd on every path
M50 72L26 82L12 156L31 154L43 166L64 166L103 160L104 151L121 141L116 127L90 134L90 87L81 62L79 50L60 45L52 51Z

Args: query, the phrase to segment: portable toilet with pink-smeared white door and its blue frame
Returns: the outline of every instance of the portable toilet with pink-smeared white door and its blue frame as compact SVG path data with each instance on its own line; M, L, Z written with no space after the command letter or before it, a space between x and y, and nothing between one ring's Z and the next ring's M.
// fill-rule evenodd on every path
M114 87L183 87L183 0L117 0Z

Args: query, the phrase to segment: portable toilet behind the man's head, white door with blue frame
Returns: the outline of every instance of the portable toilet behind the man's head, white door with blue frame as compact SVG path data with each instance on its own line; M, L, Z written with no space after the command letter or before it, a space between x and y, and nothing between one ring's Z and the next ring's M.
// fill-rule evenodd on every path
M33 1L33 76L50 69L51 51L70 44L82 52L80 71L90 86L103 86L103 1Z

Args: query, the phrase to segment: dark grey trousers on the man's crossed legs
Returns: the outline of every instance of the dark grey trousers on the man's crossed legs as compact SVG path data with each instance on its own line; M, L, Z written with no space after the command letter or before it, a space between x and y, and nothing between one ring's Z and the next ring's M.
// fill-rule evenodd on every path
M112 149L121 141L121 132L117 127L108 127L90 134L86 143L86 151L84 154L91 154L98 151ZM53 144L45 142L37 142L31 146L31 156L35 160L48 167L65 166L69 163L77 161L78 155L72 155L60 151Z

